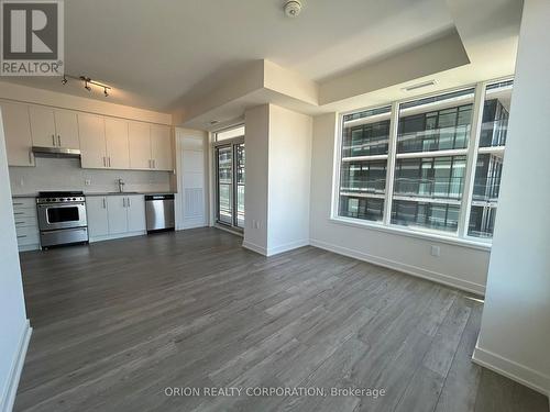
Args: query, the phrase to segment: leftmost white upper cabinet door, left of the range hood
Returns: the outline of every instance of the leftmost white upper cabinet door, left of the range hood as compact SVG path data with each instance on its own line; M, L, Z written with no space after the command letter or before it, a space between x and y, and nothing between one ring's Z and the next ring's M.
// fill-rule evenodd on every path
M9 166L34 166L29 105L1 102Z

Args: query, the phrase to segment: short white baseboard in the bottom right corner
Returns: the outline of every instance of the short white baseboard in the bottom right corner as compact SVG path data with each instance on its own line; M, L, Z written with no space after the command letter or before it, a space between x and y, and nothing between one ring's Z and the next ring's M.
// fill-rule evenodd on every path
M550 377L475 345L472 361L550 397Z

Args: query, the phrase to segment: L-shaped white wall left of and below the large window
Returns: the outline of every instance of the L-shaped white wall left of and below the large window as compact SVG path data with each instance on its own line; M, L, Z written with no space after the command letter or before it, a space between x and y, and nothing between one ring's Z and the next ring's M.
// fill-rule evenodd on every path
M314 118L311 244L337 253L483 293L490 252L330 220L337 114ZM431 256L431 246L440 256Z

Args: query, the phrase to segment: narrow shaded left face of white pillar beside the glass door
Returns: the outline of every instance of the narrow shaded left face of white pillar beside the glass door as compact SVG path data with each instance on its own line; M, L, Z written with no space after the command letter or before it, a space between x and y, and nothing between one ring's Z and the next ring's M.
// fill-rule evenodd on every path
M263 104L246 110L244 124L246 186L243 246L265 255L267 254L270 105Z

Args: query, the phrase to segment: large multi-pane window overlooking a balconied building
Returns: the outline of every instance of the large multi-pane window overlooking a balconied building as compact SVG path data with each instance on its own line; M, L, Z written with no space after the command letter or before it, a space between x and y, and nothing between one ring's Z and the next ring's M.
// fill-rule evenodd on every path
M512 83L344 114L336 213L411 231L491 238ZM484 93L481 99L476 90Z

